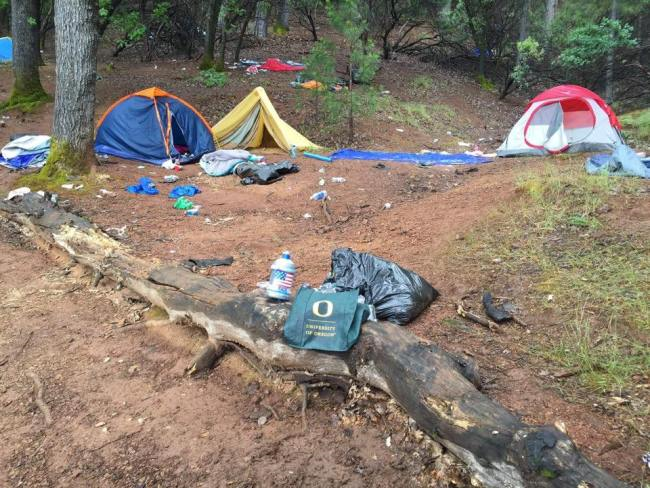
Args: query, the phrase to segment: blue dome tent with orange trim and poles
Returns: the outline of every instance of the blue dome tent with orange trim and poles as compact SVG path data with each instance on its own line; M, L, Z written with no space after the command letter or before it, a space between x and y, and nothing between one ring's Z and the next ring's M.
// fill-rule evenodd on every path
M95 152L161 165L187 163L214 151L208 122L186 101L160 88L127 95L97 123Z

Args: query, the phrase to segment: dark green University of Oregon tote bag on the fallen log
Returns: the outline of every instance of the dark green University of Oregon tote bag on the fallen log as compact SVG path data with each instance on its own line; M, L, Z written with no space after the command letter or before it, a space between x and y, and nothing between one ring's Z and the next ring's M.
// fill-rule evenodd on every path
M359 290L321 293L301 288L284 324L284 338L300 349L347 351L370 313L358 297Z

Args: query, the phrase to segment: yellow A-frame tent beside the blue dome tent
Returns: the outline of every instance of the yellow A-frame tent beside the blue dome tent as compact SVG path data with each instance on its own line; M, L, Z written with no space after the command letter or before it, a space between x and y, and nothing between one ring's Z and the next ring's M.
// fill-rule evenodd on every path
M212 136L217 147L224 149L279 147L289 151L292 145L301 151L318 148L280 118L261 86L212 127Z

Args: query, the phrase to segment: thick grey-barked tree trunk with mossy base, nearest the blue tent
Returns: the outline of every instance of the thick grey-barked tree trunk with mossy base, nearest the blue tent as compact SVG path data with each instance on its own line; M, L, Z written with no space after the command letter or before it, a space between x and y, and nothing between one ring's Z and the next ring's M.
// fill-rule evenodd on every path
M56 94L46 169L82 174L92 166L97 71L97 2L56 0Z

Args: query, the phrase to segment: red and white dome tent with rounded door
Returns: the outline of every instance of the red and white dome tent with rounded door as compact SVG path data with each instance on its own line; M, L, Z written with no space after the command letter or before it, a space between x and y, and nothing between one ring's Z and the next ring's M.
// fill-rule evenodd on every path
M612 109L594 92L560 85L530 101L497 156L611 150L623 143L620 128Z

